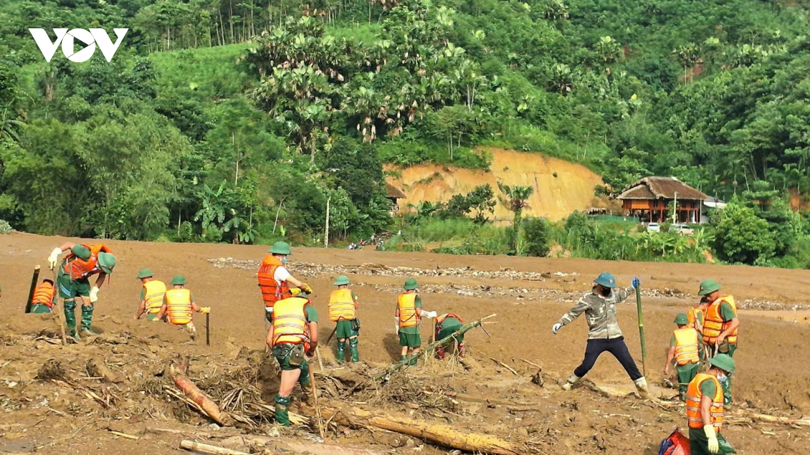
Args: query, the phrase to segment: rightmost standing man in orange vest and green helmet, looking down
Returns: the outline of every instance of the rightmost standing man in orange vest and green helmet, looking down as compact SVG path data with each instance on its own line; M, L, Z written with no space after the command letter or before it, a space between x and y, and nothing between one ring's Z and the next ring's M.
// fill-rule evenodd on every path
M720 285L714 279L701 283L697 293L706 296L709 306L706 308L703 321L703 342L706 343L710 357L727 354L734 357L737 351L737 331L740 319L737 318L737 305L733 296L723 296ZM723 385L723 396L726 404L731 403L731 378L720 381Z

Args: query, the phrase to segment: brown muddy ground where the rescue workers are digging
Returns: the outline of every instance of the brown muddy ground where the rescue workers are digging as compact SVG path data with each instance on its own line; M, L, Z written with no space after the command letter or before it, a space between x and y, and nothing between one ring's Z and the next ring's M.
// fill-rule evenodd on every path
M264 321L253 270L266 247L109 242L119 262L96 304L94 328L102 334L93 342L65 347L58 344L53 318L23 314L33 267L46 266L45 257L62 240L19 233L0 236L0 452L181 453L179 441L190 436L217 444L217 436L271 431L271 425L261 422L217 429L196 411L155 390L156 383L164 381L156 375L181 354L191 356L190 377L204 389L244 381L254 395L271 400L275 378L259 371L266 368L261 351ZM322 339L333 327L326 321L331 281L347 272L357 283L363 325L360 356L369 363L361 367L363 371L383 367L399 356L392 321L395 293L410 274L420 281L426 309L458 313L467 321L497 313L492 318L497 324L487 325L492 338L477 329L467 335L475 368L431 361L403 373L412 387L453 391L454 403L432 407L398 402L383 388L377 395L359 393L343 405L453 423L459 429L514 441L526 453L657 453L660 440L684 425L682 408L634 397L632 383L609 355L600 358L588 375L609 393L584 386L562 391L559 383L582 358L586 324L581 318L557 335L552 335L551 326L599 272L612 271L622 284L640 277L645 288L647 376L651 384L658 384L672 319L696 300L690 294L701 279L717 279L724 291L750 308L740 311L735 405L724 434L745 454L799 453L810 440L808 427L748 418L752 412L790 418L810 415L810 364L804 347L810 331L807 270L372 249L295 249L291 259L293 274L315 291ZM211 306L210 348L204 337L190 342L172 327L133 320L140 286L134 277L146 266L166 281L173 274L185 274L198 303ZM620 323L641 364L636 313L634 301L622 305ZM195 318L202 330L203 318ZM424 342L428 338L425 323ZM44 364L53 365L49 359L61 363L68 381L54 382L47 375L40 375L46 380L36 379ZM88 376L87 359L106 364L119 375L119 382ZM514 368L518 376L492 359ZM542 365L544 386L531 383L536 368L522 359ZM100 400L88 398L87 390ZM654 393L664 398L675 394L659 387ZM329 404L330 399L324 402ZM155 428L177 433L147 431ZM111 429L140 439L115 436ZM313 439L306 428L288 436ZM388 453L448 452L382 431L330 426L326 439Z

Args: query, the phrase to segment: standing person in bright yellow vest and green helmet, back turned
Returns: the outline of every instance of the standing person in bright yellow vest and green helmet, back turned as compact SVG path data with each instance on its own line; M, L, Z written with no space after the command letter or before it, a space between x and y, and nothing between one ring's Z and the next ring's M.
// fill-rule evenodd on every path
M358 337L360 337L360 319L357 318L357 296L349 289L349 281L346 275L340 275L335 279L335 286L338 288L332 291L329 296L329 320L336 323L335 336L338 338L337 359L342 365L346 359L346 342L349 343L349 353L352 355L352 362L360 362L360 352L358 351Z

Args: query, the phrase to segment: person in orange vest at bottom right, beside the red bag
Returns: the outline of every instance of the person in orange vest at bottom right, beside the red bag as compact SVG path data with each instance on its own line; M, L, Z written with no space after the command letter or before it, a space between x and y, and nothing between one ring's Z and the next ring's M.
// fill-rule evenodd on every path
M692 455L733 453L727 440L720 435L723 426L723 377L734 374L734 359L718 354L709 359L711 367L698 373L686 391L686 419L689 423L689 449Z

